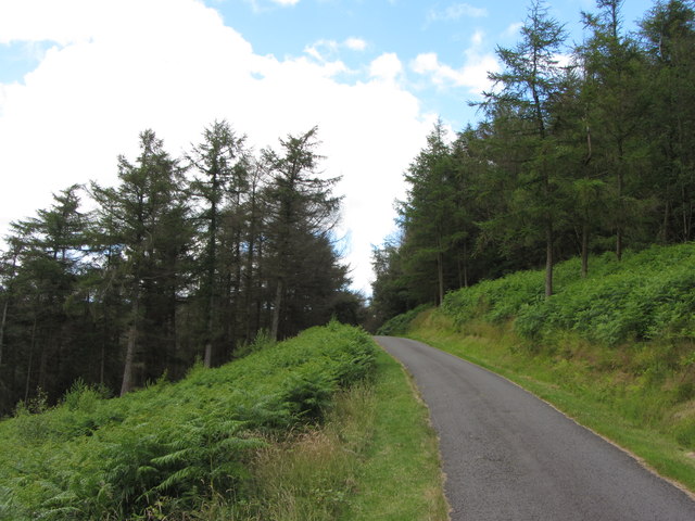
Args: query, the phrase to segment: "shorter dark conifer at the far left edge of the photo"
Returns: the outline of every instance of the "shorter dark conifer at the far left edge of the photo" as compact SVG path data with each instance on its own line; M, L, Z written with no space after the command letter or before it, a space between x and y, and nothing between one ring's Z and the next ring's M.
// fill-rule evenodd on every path
M77 291L85 241L86 220L79 212L78 191L79 187L70 187L53 196L50 208L12 224L12 268L2 310L2 335L4 342L9 298L13 298L14 320L30 323L13 339L25 354L23 360L16 360L24 368L25 401L38 389L54 399L53 389L71 379L77 360L78 343L71 339L68 303ZM72 353L66 352L67 345Z

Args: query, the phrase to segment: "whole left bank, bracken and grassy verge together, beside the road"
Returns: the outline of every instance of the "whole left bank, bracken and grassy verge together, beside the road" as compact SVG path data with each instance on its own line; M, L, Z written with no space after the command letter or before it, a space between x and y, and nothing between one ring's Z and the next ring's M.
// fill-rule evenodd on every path
M0 519L368 519L363 499L394 501L354 499L365 468L426 469L404 487L419 498L406 516L445 519L431 516L441 491L439 504L424 492L440 480L426 412L364 331L331 323L256 347L123 398L76 384L59 407L22 407L0 422ZM384 392L407 398L397 410L430 447L401 468L381 458Z

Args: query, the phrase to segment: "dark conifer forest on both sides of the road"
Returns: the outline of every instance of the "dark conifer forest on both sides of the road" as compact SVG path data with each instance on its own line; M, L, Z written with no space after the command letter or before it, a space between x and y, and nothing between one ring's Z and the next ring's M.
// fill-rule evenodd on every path
M694 239L695 5L659 0L628 31L596 0L571 42L534 0L481 120L439 122L405 171L399 233L375 247L369 317L336 249L338 178L318 130L251 150L226 122L180 157L153 130L114 187L54 194L0 251L0 416L74 382L123 395L219 366L257 338L331 317L379 325L484 279Z

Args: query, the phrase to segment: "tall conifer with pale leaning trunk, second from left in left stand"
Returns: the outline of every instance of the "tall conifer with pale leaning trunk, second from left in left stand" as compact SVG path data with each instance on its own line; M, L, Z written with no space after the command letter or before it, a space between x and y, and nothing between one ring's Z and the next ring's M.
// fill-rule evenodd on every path
M157 378L174 355L178 264L190 227L181 170L152 130L140 134L135 164L118 158L118 178L117 188L94 183L92 192L108 242L101 247L123 256L122 283L130 307L123 395Z

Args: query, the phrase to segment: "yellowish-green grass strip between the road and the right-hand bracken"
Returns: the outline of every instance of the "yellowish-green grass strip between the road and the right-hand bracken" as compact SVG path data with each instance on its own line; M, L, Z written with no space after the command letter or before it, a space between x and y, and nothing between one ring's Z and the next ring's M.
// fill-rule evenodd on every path
M695 440L690 429L674 427L695 405L674 403L662 382L647 385L597 363L601 351L584 342L536 353L509 327L471 321L457 330L437 312L420 315L407 335L508 378L695 493Z

